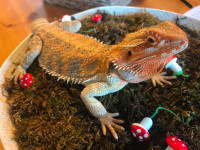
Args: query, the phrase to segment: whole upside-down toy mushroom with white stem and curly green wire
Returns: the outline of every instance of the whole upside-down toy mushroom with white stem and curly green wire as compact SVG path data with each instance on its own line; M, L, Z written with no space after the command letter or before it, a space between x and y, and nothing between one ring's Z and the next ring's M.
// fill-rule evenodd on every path
M145 117L140 123L133 123L131 125L131 132L139 141L147 141L150 138L148 130L152 125L152 119Z

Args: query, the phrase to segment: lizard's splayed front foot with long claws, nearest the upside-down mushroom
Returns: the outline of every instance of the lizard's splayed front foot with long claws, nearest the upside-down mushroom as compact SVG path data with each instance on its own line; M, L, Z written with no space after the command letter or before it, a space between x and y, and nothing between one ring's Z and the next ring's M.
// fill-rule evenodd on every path
M124 128L122 126L116 124L116 123L122 124L122 123L124 123L124 121L113 118L118 115L119 115L119 113L106 113L104 116L98 118L99 121L101 122L103 134L106 135L106 127L108 127L108 129L110 130L110 132L112 133L113 137L116 140L118 139L118 135L113 127L120 129L120 130L124 130Z

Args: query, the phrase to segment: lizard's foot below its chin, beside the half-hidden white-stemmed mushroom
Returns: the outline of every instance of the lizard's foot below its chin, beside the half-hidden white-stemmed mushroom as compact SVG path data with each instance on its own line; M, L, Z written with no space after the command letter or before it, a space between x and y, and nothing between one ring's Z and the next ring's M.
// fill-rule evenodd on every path
M176 79L176 76L164 76L165 74L166 72L162 72L151 78L154 87L156 86L156 83L161 85L162 87L164 87L163 83L172 85L172 83L167 80Z

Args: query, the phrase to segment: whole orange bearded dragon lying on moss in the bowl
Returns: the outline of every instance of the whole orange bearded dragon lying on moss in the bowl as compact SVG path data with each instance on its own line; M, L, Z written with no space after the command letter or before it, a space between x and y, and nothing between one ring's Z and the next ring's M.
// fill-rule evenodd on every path
M81 27L80 23L74 26ZM174 76L162 76L162 69L175 54L188 46L184 31L171 21L143 28L126 35L118 45L104 45L78 33L65 31L63 24L49 24L38 19L32 24L30 51L14 72L15 82L21 78L33 60L39 56L39 64L49 74L72 83L85 85L81 99L90 113L99 119L103 134L106 127L115 139L114 128L124 130L118 113L109 113L95 97L119 91L128 83L152 79L156 83ZM69 30L69 29L67 29Z

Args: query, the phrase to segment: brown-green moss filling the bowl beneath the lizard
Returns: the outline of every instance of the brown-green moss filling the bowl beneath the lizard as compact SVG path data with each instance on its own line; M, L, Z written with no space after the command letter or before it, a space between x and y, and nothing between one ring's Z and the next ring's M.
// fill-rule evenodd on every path
M117 44L127 33L161 22L149 13L128 16L102 14L101 23L82 20L80 33L96 37L104 44ZM177 25L179 25L177 19ZM10 115L16 127L15 140L22 150L163 150L165 138L174 135L185 141L190 150L200 149L200 39L188 28L180 26L189 37L189 47L178 54L178 63L188 78L179 76L172 86L153 87L151 82L129 84L119 92L98 97L109 112L119 112L125 131L118 131L119 140L102 135L99 121L91 116L80 93L84 86L57 81L39 67L37 59L27 72L33 85L23 89L8 84ZM166 70L172 74L170 70ZM137 141L130 132L134 122L151 116L159 106L172 110L181 118L160 110L153 118L147 142Z

